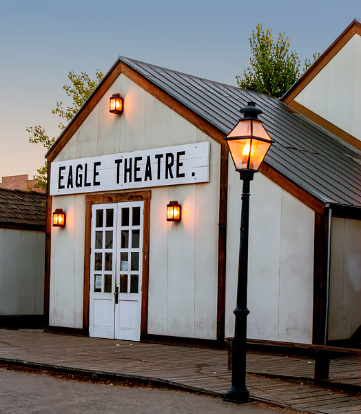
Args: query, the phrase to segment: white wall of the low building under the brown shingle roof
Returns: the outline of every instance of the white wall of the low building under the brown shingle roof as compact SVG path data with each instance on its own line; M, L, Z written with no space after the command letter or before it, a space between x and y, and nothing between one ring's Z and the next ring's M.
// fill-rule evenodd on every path
M43 315L45 234L0 228L0 315Z

